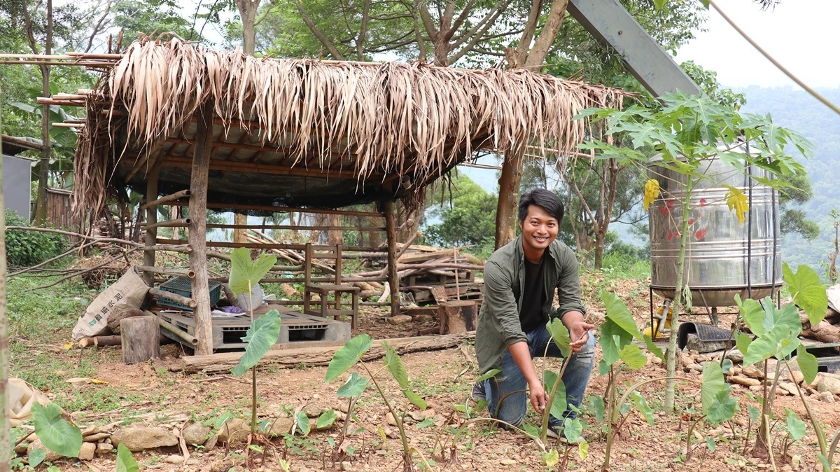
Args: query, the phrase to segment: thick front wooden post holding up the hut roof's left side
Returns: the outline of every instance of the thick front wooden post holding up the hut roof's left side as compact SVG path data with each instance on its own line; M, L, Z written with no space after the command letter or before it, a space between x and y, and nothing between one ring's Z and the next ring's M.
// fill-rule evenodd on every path
M198 108L196 147L192 154L190 176L190 269L192 299L196 301L195 335L197 355L213 354L213 317L210 315L210 292L207 291L207 172L213 152L213 107L204 103Z

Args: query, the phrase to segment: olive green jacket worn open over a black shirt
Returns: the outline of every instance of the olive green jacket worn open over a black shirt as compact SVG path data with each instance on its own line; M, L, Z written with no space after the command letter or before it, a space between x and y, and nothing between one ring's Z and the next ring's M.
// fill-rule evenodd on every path
M563 317L567 312L585 312L580 304L580 279L575 253L554 240L547 249L543 264L545 303L543 317ZM475 355L480 374L497 367L507 353L507 346L528 341L519 323L525 284L525 254L522 236L496 250L484 268L484 302L475 332ZM554 308L554 288L559 307Z

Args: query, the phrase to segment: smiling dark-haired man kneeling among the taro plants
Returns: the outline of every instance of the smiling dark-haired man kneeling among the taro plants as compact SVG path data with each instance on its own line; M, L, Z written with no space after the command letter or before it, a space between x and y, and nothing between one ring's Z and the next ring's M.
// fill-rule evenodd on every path
M549 319L559 317L572 340L573 354L563 375L569 405L564 417L575 417L592 370L595 337L589 330L595 326L584 321L577 260L556 240L563 212L554 192L539 189L522 195L522 234L496 250L484 270L475 354L481 374L491 369L501 373L476 384L474 396L489 400L491 415L516 427L525 417L528 396L540 414L549 400L532 361L535 356L562 357L554 341L549 343ZM555 288L557 308L552 307ZM549 434L559 436L562 427L563 418L550 417Z

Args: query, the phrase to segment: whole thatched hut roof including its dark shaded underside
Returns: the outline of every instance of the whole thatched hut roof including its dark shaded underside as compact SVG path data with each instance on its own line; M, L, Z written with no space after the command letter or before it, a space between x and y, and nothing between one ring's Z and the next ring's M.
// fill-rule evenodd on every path
M197 109L213 107L210 199L343 207L404 197L476 151L575 148L624 92L528 71L258 59L180 39L130 45L87 96L76 205L189 186Z

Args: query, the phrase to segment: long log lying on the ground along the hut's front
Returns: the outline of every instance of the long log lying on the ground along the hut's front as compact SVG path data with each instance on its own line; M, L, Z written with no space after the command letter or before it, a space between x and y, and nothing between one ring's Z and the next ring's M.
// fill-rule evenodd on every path
M386 339L391 348L396 349L397 354L408 354L419 351L432 351L438 349L449 349L459 346L467 341L475 339L475 332L448 334L446 336L421 336L412 338ZM381 341L376 341L362 360L370 361L385 356L381 347ZM299 349L277 349L270 350L265 357L260 359L260 366L271 364L274 367L293 369L300 365L309 367L327 365L333 359L339 347L324 348L299 348ZM181 358L182 368L188 374L203 372L205 374L218 374L229 372L237 364L244 353L219 353L210 355L192 355Z

